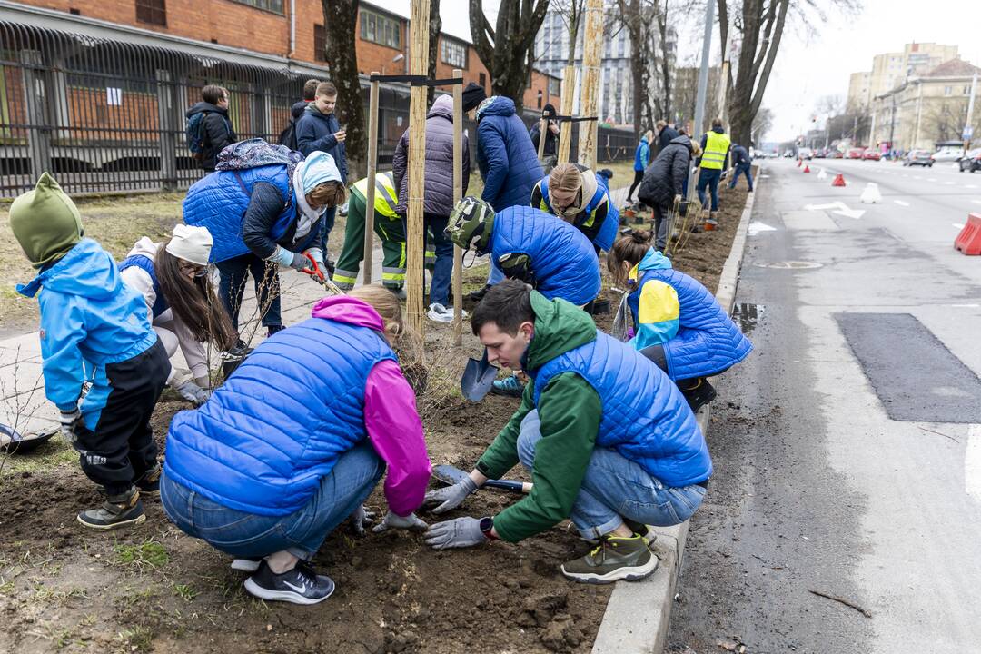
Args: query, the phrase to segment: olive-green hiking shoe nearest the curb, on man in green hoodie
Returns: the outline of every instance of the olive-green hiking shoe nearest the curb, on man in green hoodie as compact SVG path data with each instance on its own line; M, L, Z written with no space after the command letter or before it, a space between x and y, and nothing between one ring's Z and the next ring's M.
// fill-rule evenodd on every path
M592 552L562 564L562 574L582 583L612 583L645 579L656 568L657 557L647 548L647 539L635 533L603 536Z

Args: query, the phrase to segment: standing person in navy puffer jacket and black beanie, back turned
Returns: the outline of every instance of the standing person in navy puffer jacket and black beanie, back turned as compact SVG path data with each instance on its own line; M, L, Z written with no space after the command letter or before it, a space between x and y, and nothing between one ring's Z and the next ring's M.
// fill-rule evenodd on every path
M480 103L475 115L477 166L484 180L481 199L497 211L527 205L544 173L528 127L515 111L514 100L491 96ZM491 284L503 278L491 263L487 286L471 293L470 299L479 301Z

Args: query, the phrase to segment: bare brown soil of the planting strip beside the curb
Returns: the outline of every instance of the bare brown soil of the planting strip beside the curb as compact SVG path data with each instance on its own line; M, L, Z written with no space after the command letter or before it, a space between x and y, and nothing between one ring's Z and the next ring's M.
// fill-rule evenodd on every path
M741 207L745 194L723 197ZM738 220L739 211L727 210L720 229L692 234L676 266L714 288ZM467 277L472 289L481 276ZM619 294L603 292L615 309ZM597 317L601 328L611 321L612 313ZM474 405L459 396L465 358L479 354L468 334L461 353L449 347L449 326L431 329L434 372L419 397L432 460L465 470L517 405L494 396ZM158 405L161 449L167 425L184 408ZM55 439L33 456L65 447ZM527 475L515 469L512 477ZM518 544L445 553L418 534L356 536L344 526L313 562L335 579L334 596L313 607L266 604L245 593L230 557L182 534L158 501L147 504L139 528L81 528L77 511L100 498L77 465L7 472L0 495L0 652L588 652L611 591L558 573L588 549L567 524ZM481 491L446 517L492 515L514 499ZM384 513L381 485L368 505Z

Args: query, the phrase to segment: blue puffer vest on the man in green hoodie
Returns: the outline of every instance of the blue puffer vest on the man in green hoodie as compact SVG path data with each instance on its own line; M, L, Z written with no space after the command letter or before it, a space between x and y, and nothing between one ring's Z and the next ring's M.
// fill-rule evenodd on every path
M664 485L711 477L708 446L681 391L630 345L597 329L594 341L527 372L535 379L536 406L552 377L571 372L586 379L603 410L596 445L640 464Z

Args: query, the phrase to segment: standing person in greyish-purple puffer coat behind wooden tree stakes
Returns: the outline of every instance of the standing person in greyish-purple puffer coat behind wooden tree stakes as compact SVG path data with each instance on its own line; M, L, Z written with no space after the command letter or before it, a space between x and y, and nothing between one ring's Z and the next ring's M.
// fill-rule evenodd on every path
M408 213L409 198L409 130L406 129L395 146L391 160L398 206L395 212ZM463 193L470 180L470 140L463 135ZM453 242L443 231L453 211L453 98L440 95L426 117L426 173L423 221L433 235L436 264L430 285L430 320L449 323L453 311L449 304L449 282L453 272Z

